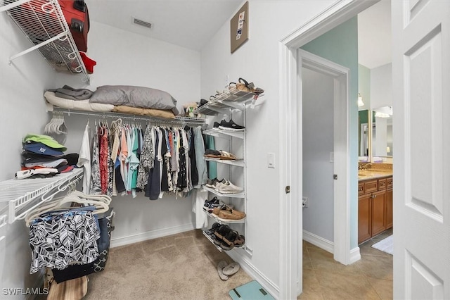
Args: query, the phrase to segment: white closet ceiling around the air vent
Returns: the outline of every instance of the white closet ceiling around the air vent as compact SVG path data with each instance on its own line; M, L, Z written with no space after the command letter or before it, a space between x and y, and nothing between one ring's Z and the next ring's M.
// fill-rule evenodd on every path
M242 3L242 0L86 0L93 21L198 51ZM132 23L133 17L152 23L152 27Z

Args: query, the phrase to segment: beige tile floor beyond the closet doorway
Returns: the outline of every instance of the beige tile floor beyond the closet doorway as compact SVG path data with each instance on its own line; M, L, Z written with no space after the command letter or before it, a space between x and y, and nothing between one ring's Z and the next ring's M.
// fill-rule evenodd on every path
M392 229L359 245L361 260L342 265L303 241L303 293L297 299L392 299L392 255L372 248Z

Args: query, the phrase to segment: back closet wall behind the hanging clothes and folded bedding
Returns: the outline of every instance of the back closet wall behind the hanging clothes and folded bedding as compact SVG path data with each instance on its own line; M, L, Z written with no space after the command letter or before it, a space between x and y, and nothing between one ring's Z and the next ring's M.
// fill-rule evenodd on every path
M88 51L88 56L97 62L88 89L94 91L101 85L161 89L178 101L180 111L183 104L200 99L198 51L96 22L92 22L89 31ZM72 77L59 77L56 87L63 85L79 86L82 82L74 82ZM79 115L66 118L68 151L79 151L87 120L86 116ZM150 201L143 193L136 199L116 196L113 207L116 211L113 246L193 229L191 197L165 196Z

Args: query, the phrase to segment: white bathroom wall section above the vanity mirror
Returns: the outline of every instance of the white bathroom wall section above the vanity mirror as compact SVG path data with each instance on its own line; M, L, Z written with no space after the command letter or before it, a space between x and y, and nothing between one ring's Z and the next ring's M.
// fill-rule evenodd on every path
M371 109L392 106L392 63L371 69Z

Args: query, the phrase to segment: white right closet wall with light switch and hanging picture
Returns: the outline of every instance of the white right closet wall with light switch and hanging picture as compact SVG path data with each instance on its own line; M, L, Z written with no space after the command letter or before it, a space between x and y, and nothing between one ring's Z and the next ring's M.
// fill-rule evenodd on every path
M252 257L241 255L264 284L279 285L278 46L283 37L306 23L334 1L249 1L249 40L230 54L230 24L225 23L202 50L201 96L205 99L230 81L243 77L265 89L264 105L248 111L248 218L246 242ZM267 168L267 153L276 168ZM284 187L283 187L284 189ZM267 286L266 286L267 287ZM278 292L278 291L276 291Z

